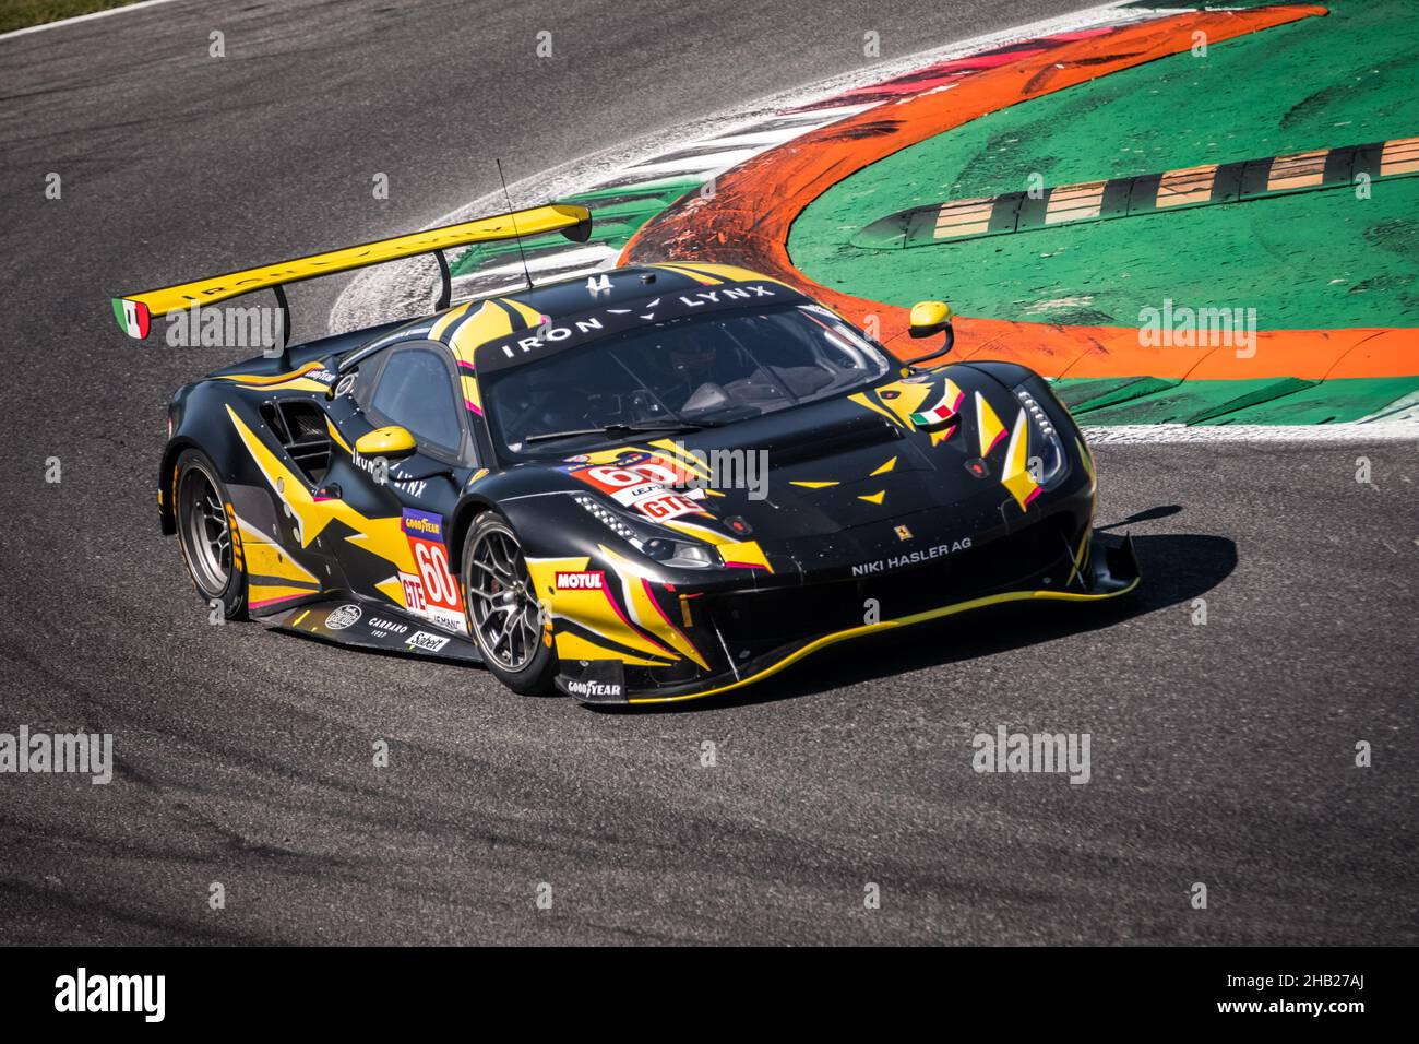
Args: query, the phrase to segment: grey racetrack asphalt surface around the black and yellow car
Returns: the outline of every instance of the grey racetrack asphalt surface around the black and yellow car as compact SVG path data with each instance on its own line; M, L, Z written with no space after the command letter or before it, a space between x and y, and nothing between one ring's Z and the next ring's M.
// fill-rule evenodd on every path
M650 713L211 626L158 533L167 396L228 359L128 339L111 295L413 230L495 155L521 178L841 72L867 30L894 57L1077 6L179 0L0 40L0 732L118 761L0 776L0 942L1416 942L1413 442L1101 446L1131 602ZM999 724L1088 733L1090 783L976 774Z

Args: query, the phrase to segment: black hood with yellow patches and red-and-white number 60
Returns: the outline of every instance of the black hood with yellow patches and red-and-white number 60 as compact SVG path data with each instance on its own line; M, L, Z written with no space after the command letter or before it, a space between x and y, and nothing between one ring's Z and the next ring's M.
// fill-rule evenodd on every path
M758 541L876 530L942 509L981 530L1007 524L1010 504L1023 510L1033 483L1019 472L1032 437L1007 388L956 365L575 457L562 470L646 521L714 526Z

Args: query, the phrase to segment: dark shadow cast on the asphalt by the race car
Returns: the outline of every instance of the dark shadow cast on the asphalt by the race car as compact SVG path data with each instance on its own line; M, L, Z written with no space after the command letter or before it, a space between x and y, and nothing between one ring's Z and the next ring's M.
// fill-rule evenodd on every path
M1152 509L1125 518L1118 526L1175 513L1169 509ZM684 703L630 707L596 705L593 709L612 713L685 713L729 705L776 703L910 670L962 663L1088 634L1192 601L1226 580L1237 564L1237 550L1232 540L1206 534L1134 537L1134 550L1142 580L1134 591L1115 599L1095 604L1006 602L841 642L773 678L734 692Z

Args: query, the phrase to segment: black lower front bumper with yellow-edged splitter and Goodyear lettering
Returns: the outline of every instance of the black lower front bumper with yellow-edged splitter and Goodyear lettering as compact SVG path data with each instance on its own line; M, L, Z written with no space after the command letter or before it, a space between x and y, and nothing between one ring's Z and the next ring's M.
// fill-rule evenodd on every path
M1086 530L1071 545L1057 527L1036 527L883 577L707 595L695 615L697 631L717 639L710 670L685 676L684 668L572 660L562 663L558 687L589 705L677 703L752 685L853 638L1003 602L1103 601L1138 580L1131 540Z

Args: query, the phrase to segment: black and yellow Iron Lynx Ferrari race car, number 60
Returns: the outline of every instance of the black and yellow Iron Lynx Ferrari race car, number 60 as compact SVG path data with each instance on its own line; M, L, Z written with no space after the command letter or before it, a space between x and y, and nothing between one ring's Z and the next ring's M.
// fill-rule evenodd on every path
M1138 582L1093 530L1088 447L1032 371L915 362L793 287L646 264L450 305L443 251L561 232L551 205L115 298L121 328L434 253L431 315L267 351L177 391L162 531L228 619L481 662L519 693L667 703L834 642ZM925 365L932 364L932 365Z

